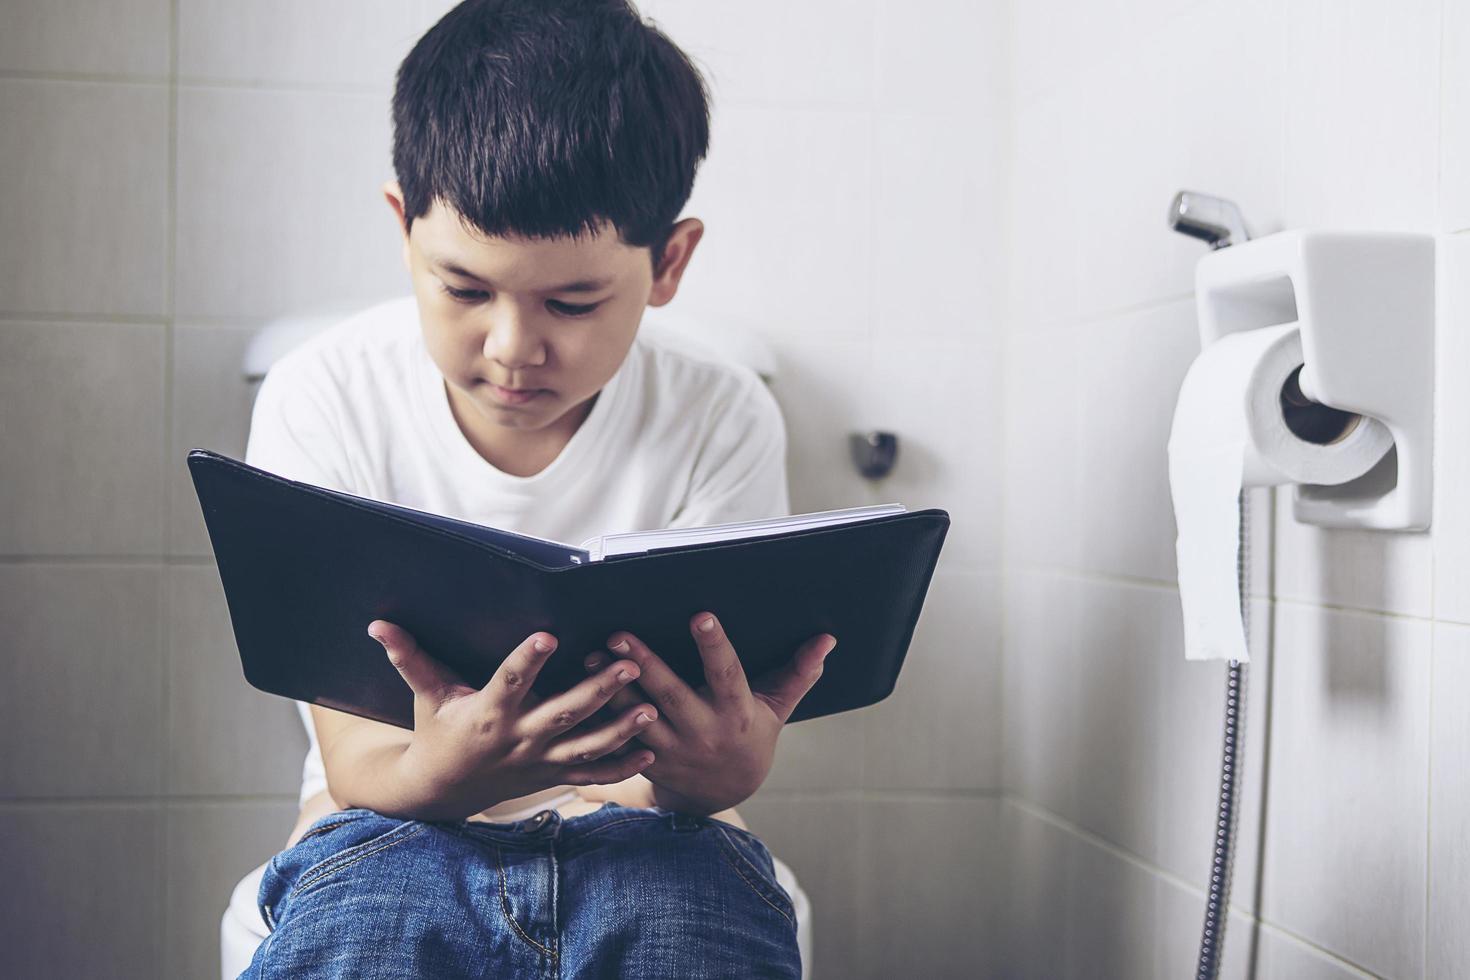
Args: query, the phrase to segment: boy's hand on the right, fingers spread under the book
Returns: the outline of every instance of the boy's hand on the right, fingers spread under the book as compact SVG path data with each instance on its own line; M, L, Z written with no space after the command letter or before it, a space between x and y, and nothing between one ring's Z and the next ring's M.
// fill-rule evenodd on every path
M644 771L654 788L654 804L713 814L750 798L766 780L776 736L822 676L822 661L836 646L836 638L831 633L813 636L789 664L759 679L753 689L713 613L695 614L689 632L709 682L698 691L684 683L632 633L613 633L607 648L637 663L642 670L642 691L662 714L638 733L638 741L657 754L657 761ZM600 671L609 660L597 652L585 664ZM634 689L629 689L612 698L610 707L635 702Z

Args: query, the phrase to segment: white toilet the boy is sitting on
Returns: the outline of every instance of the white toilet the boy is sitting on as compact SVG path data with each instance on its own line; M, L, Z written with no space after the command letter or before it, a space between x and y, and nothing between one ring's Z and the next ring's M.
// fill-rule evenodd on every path
M266 325L245 350L244 375L251 383L265 378L266 370L278 357L322 331L344 319L345 314L328 316L290 316ZM639 326L639 332L653 332L669 347L703 353L723 360L745 364L760 375L767 383L775 378L776 359L763 338L739 325L722 322L694 325L682 319L670 317L664 310L650 309ZM298 705L306 733L312 745L316 743L316 733L312 730L310 714L304 705ZM281 839L290 829L281 829ZM235 884L229 895L229 905L219 920L219 958L220 977L235 980L254 956L256 948L269 936L256 896L260 892L260 879L265 874L270 857L245 874ZM811 974L811 902L801 890L795 874L778 857L772 855L776 870L776 882L791 896L797 917L797 946L801 951L801 968L806 976Z

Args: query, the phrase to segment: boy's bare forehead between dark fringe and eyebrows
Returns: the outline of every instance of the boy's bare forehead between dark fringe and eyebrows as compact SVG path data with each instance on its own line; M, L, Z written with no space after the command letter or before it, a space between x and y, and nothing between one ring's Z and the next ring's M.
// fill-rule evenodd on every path
M534 288L575 279L617 279L638 266L641 248L625 244L609 223L582 238L487 235L435 203L415 219L410 239L434 266ZM644 259L647 263L647 259Z

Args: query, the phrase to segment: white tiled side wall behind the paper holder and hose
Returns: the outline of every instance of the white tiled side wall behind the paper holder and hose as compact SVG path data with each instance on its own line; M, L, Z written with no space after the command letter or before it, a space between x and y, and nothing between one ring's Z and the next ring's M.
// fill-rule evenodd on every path
M1257 234L1445 234L1432 532L1305 527L1288 492L1255 494L1270 655L1251 670L1225 974L1467 976L1470 6L1047 0L1011 18L997 973L1192 971L1225 670L1182 660L1166 478L1204 248L1164 212L1189 188L1236 200Z

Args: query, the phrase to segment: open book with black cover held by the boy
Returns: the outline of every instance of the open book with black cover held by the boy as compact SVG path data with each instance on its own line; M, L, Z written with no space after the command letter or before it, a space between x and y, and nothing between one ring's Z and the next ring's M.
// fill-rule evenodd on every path
M592 538L581 547L288 480L193 450L245 679L272 693L413 726L413 696L366 627L403 626L484 685L537 630L559 646L535 688L582 679L582 658L632 632L695 688L688 632L720 617L748 676L817 633L838 639L792 720L888 696L950 526L900 504Z

